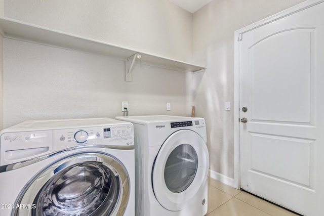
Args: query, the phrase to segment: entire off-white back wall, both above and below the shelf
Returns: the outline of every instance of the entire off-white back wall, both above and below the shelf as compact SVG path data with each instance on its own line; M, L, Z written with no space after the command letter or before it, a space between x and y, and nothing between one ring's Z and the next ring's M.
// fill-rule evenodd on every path
M167 0L5 0L5 16L168 58L192 58L192 14ZM141 62L133 82L126 82L123 59L7 38L4 61L4 127L29 119L113 118L125 114L121 101L129 102L129 115L191 115L191 73Z

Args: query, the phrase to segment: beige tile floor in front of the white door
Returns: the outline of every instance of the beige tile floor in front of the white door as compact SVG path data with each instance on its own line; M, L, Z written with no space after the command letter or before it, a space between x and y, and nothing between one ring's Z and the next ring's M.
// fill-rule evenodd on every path
M206 216L288 216L297 215L249 193L237 190L212 178L208 179Z

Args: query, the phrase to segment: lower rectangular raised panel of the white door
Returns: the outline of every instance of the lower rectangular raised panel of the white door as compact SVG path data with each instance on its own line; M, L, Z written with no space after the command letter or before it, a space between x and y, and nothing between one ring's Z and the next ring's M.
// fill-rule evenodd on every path
M251 133L251 170L286 182L313 189L315 140ZM296 147L297 146L297 147ZM294 148L293 148L294 147ZM286 155L294 155L287 160ZM275 164L262 163L275 158ZM291 170L292 164L294 170ZM280 169L276 169L280 167Z

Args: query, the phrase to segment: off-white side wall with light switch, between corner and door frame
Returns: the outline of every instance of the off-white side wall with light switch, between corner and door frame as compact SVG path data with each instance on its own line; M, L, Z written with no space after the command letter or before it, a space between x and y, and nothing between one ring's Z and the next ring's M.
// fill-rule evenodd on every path
M194 75L194 105L207 119L212 171L234 175L234 31L303 1L214 0L193 14L193 62L207 65L205 73Z

